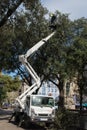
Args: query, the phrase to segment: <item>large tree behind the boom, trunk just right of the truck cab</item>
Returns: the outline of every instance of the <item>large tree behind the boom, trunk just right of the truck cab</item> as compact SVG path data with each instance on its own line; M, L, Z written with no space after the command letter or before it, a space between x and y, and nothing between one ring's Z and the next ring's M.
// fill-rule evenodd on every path
M48 80L57 85L60 91L60 106L64 105L63 87L65 78L68 76L66 72L66 48L69 43L71 33L71 21L67 14L56 12L57 31L54 37L43 46L36 57L36 62L33 66L39 74L43 75L43 80ZM34 61L35 61L34 60ZM37 68L39 67L39 69ZM59 83L55 83L55 79Z

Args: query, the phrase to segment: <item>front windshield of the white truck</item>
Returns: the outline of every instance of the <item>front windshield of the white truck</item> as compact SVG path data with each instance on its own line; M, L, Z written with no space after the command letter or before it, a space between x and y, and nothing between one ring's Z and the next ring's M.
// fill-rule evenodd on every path
M54 99L52 97L32 96L31 104L33 106L53 107Z

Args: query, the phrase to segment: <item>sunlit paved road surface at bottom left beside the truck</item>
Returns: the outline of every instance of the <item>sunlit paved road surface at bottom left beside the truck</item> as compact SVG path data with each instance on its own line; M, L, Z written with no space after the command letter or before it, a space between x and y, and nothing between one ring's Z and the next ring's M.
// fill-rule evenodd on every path
M0 109L0 130L47 130L43 126L31 124L29 128L18 127L14 121L8 122L12 111L8 109Z

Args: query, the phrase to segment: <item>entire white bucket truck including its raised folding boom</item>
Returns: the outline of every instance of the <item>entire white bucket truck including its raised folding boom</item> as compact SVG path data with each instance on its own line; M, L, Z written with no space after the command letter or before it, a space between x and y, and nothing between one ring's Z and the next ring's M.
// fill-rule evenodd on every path
M29 122L52 123L54 121L55 117L54 98L52 96L33 94L38 88L40 88L41 81L39 76L37 75L37 73L34 71L34 69L27 60L31 54L36 52L54 34L55 31L53 31L46 38L42 39L37 44L35 44L31 49L29 49L26 52L26 54L19 56L19 61L26 67L27 71L29 72L29 74L33 79L33 84L29 86L29 88L24 93L22 93L19 97L16 98L18 106L16 113L19 113L19 115L23 115L21 117L23 118L21 121L24 121L25 123L27 123L27 125Z

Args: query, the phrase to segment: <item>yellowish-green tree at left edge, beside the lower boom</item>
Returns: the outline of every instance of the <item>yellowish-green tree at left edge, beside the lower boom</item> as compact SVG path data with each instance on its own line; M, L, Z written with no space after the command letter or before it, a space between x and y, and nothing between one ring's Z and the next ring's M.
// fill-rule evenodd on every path
M7 98L7 92L18 91L21 80L18 77L12 78L8 75L0 76L0 104Z

